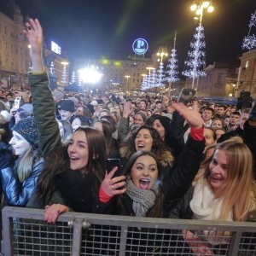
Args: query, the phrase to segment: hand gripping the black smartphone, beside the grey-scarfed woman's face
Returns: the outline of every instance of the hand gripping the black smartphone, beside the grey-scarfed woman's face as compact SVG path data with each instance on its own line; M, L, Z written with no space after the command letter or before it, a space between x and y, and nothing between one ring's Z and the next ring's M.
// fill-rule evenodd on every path
M109 196L121 195L126 191L125 188L125 176L121 175L113 177L114 173L118 170L118 167L114 167L111 172L106 172L106 175L102 181L102 190Z

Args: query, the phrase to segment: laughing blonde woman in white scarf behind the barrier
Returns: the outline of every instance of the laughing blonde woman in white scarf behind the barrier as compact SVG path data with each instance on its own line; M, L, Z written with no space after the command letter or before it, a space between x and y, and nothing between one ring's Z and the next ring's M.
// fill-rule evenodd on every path
M217 145L203 177L195 181L169 217L247 221L256 210L255 195L252 154L240 137L233 137ZM215 249L229 246L229 237L219 239L218 233L198 232L183 230L183 239L193 247L193 253L212 248L212 255ZM195 242L201 245L195 248Z

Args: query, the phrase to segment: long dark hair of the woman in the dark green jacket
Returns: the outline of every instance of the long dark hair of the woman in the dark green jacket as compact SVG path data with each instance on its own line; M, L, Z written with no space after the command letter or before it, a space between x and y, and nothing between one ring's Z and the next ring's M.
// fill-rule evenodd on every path
M93 173L94 189L98 189L105 176L106 170L106 144L100 131L91 127L79 127L75 132L83 131L88 143L88 164L86 171ZM36 195L43 201L50 200L55 192L55 177L61 172L67 172L70 169L67 146L60 145L45 156L44 170L38 178Z

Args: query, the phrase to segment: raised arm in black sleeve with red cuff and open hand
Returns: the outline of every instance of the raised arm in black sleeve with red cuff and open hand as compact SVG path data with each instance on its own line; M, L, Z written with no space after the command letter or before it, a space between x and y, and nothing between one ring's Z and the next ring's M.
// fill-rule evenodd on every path
M174 103L173 108L188 121L191 131L177 166L164 183L166 194L164 209L168 212L172 208L172 204L182 198L192 184L201 164L205 146L201 114L197 110L189 110L183 103Z

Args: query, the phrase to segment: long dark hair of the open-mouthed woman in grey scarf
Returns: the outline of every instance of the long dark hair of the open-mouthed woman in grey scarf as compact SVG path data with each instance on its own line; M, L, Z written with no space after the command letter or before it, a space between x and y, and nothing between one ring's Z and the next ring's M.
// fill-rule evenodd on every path
M137 151L136 153L131 155L131 158L128 160L127 164L125 165L125 170L124 170L125 176L128 176L128 175L131 176L132 166L134 165L136 160L143 155L148 155L148 156L151 156L152 158L154 158L156 165L157 165L157 169L158 169L158 179L160 179L160 177L161 177L160 169L161 168L159 166L159 161L157 160L154 153L152 153L150 151L146 151L146 150ZM122 197L120 196L120 200L119 200L120 205L122 205L121 198ZM163 199L164 199L164 195L162 193L162 187L161 187L161 183L160 183L158 192L156 193L154 206L147 212L148 217L152 217L152 218L160 218L161 217Z

